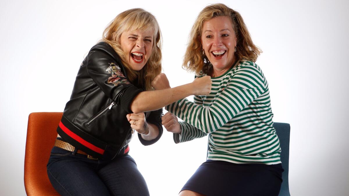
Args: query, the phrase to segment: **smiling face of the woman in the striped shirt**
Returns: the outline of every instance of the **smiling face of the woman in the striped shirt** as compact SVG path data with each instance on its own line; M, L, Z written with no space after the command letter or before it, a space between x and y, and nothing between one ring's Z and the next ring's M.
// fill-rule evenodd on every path
M203 23L202 48L213 65L213 71L226 71L235 61L236 35L228 16L217 16Z

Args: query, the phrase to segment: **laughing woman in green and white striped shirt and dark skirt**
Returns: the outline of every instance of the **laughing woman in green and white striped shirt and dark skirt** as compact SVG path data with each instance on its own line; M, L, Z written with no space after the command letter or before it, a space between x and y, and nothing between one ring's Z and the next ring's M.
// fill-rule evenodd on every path
M268 83L255 64L260 50L243 18L224 4L210 5L200 12L190 35L184 68L196 77L211 76L211 93L194 96L194 103L181 99L166 106L169 113L162 123L176 143L210 133L209 150L207 161L179 195L278 195L280 143ZM165 76L161 79L159 84L166 83Z

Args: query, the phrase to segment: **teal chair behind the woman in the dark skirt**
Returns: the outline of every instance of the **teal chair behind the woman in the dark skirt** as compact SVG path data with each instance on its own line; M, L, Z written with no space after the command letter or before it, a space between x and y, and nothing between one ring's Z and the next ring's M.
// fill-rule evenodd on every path
M279 137L280 146L281 146L281 163L282 167L285 170L282 173L282 184L280 188L279 196L290 196L290 189L288 187L288 159L290 152L290 124L282 122L274 122L273 127L276 130L276 135ZM209 146L207 145L207 154L208 156Z

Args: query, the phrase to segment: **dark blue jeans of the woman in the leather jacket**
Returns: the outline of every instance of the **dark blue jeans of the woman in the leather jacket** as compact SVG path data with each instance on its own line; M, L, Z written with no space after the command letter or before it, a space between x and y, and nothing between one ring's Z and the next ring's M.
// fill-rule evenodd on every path
M60 195L149 195L134 159L92 160L86 155L53 147L47 175Z

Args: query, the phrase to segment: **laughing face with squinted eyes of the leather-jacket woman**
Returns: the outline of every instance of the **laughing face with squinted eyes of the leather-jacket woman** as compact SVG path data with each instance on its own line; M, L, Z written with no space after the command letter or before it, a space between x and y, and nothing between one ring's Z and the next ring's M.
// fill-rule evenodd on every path
M153 50L153 30L129 30L120 36L120 45L132 70L139 71L146 65Z

